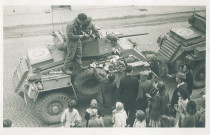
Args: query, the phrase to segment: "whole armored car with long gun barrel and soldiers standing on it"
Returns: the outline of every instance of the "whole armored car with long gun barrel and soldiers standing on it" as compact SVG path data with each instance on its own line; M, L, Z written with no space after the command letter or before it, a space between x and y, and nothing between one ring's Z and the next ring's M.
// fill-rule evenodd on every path
M133 43L123 39L148 33L104 35L102 30L98 32L91 18L81 13L67 26L66 34L67 40L61 32L53 32L54 45L27 50L27 57L21 59L13 75L15 92L23 97L27 104L35 103L36 116L44 123L60 122L69 100L95 98L100 90L100 82L94 75L93 68L87 68L82 72L76 70L74 75L69 68L90 67L94 61L97 64L98 75L103 78L107 76L105 66L114 73L120 72L120 75L122 73L116 80L123 77L124 60L135 67L134 75L142 70L150 71L149 63L141 52L134 48ZM112 55L113 40L116 42L114 47L121 52L117 56ZM131 57L131 60L127 60ZM35 72L37 68L40 69L40 74ZM39 77L39 83L36 83L36 78L31 77L32 74Z

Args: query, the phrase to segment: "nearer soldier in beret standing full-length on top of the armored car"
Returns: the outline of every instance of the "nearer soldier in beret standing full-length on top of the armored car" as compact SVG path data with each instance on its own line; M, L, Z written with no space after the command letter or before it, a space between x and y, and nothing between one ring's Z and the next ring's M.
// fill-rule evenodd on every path
M79 68L82 68L82 43L81 40L88 39L90 36L84 34L82 26L87 20L87 15L84 13L78 14L76 19L67 25L67 55L64 60L64 70L66 74L71 74L73 70L73 62L75 62ZM70 70L70 68L72 68Z

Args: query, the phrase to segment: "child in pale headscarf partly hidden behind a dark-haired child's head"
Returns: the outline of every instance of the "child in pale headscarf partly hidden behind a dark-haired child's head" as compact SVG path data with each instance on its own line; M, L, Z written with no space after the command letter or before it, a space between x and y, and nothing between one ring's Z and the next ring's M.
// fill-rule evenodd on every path
M100 118L103 124L103 115L101 114L100 109L98 109L98 102L96 99L92 99L90 102L90 107L85 112L86 127L88 127L88 122L90 120L90 114L93 109L97 110L96 117ZM104 126L104 124L103 124Z

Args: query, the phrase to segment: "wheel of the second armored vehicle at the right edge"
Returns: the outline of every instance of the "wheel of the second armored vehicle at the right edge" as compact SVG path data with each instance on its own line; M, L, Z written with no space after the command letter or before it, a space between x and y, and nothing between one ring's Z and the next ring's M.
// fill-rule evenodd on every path
M205 86L205 63L196 64L193 68L193 86L202 88Z

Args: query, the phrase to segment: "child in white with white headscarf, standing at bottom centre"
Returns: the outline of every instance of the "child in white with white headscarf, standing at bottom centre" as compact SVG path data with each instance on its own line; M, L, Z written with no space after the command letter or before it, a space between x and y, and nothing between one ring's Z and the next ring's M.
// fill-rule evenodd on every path
M126 120L128 116L124 110L123 103L117 102L116 109L112 111L113 127L126 127Z

